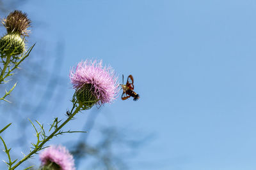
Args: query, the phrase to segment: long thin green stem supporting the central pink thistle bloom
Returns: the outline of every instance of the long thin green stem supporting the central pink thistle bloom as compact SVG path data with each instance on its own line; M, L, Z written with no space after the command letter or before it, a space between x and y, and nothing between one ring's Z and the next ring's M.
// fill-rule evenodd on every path
M78 111L81 109L81 106L77 106L76 110L74 111L74 113L72 113L72 115L70 115L70 117L67 118L67 120L65 120L65 122L63 122L60 127L58 127L54 132L52 132L52 134L50 134L50 136L48 136L44 141L42 141L42 143L37 146L32 152L30 152L28 155L26 155L26 157L24 157L22 160L20 160L17 164L15 164L15 166L13 166L11 168L11 170L15 169L16 167L18 167L22 162L24 162L25 160L29 159L29 157L31 157L34 153L38 152L40 150L40 148L42 148L42 146L44 146L44 144L49 141L54 134L56 134L58 131L60 131L60 129L67 124L67 122L69 122L69 120L71 120L76 113L78 113Z

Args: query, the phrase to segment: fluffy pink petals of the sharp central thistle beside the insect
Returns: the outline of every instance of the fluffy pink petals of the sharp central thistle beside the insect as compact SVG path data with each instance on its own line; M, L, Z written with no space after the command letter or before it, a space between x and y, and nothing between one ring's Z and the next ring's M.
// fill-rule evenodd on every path
M111 103L120 90L114 70L111 66L103 67L102 60L79 62L72 68L69 77L76 90L90 87L93 96L99 100L97 104Z

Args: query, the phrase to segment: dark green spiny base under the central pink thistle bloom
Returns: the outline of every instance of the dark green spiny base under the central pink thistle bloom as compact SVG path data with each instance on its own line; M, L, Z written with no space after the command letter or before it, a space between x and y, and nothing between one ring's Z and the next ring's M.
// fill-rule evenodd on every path
M97 103L97 98L93 94L93 87L91 84L84 84L83 87L77 90L76 98L79 103L90 107Z

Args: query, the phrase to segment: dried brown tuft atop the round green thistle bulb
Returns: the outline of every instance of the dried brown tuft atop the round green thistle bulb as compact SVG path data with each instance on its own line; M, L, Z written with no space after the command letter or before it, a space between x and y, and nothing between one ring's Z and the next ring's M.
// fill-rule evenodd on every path
M26 13L15 10L12 11L7 18L4 18L2 23L4 27L6 27L8 34L28 36L28 28L30 27L31 20L29 20Z

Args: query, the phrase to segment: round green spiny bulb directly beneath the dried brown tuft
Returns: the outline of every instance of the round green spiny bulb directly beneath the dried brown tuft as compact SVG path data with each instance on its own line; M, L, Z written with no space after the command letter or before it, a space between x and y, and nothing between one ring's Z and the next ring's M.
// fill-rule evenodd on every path
M0 53L19 55L25 51L24 39L19 34L7 34L0 39Z

